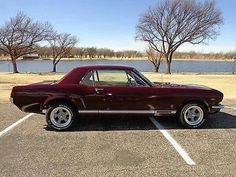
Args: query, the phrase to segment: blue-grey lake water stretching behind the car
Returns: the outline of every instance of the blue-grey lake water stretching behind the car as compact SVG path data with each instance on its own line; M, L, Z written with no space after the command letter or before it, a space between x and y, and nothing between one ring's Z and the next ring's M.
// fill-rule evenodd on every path
M58 72L68 72L72 68L85 65L127 65L142 72L154 71L148 60L61 60L57 65ZM19 72L50 72L51 60L20 60L17 61ZM12 71L9 61L0 61L0 72ZM203 61L203 60L174 60L171 71L177 72L236 72L236 61ZM165 63L161 63L160 72L165 72Z

